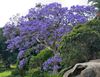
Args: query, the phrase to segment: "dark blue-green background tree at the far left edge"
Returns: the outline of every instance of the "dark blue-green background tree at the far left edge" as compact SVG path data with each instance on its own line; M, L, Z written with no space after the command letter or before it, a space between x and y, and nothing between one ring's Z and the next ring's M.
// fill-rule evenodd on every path
M0 56L6 68L10 68L10 64L16 62L16 52L11 53L7 51L6 38L3 36L3 28L0 28Z

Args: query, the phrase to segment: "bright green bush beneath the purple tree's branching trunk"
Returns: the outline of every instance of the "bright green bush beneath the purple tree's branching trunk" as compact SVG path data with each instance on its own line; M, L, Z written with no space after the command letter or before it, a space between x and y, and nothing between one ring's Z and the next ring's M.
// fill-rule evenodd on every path
M36 67L41 67L43 62L46 61L49 57L51 57L53 54L52 54L52 51L50 51L48 48L40 51L39 54L37 54L36 56L32 56L31 59L30 59L30 68L36 68Z

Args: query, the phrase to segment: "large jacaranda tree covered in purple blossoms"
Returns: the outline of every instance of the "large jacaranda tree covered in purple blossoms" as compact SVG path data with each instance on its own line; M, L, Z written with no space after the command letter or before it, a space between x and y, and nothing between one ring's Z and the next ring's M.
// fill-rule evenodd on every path
M54 57L44 62L43 67L47 70L45 63L54 62L52 68L53 71L57 71L58 63L61 61L58 57L61 37L77 24L85 23L93 17L95 8L92 6L77 5L68 9L59 3L39 5L31 8L26 16L20 17L17 25L14 22L7 23L4 27L4 36L8 39L8 49L19 50L20 68L23 68L27 61L24 54L28 49L32 48L32 52L38 54L40 50L48 48Z

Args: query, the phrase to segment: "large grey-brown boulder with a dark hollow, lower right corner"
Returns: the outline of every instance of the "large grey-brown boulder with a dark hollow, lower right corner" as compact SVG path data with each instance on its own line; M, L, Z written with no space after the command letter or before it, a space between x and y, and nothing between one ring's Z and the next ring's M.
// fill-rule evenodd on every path
M63 77L100 77L100 59L77 63Z

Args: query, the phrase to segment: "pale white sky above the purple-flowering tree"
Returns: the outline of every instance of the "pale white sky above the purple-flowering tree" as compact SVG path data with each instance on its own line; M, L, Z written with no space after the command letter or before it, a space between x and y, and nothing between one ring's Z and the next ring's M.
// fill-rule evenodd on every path
M25 15L36 3L49 4L58 2L62 6L87 5L87 0L0 0L0 27L3 27L9 18L19 13Z

